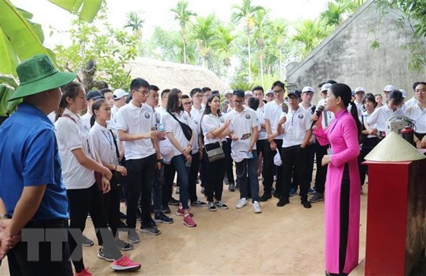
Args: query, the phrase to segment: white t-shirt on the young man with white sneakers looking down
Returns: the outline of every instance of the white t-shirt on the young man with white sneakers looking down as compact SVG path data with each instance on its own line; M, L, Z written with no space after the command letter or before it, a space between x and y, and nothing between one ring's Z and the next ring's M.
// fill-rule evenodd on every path
M231 150L233 153L236 151L246 151L251 144L251 135L253 135L253 127L260 130L260 124L257 113L250 107L244 107L243 112L237 112L235 109L225 116L225 120L230 120L229 131L233 131L238 140L233 140L231 143ZM244 134L250 134L249 138L242 140ZM254 143L253 149L256 149Z

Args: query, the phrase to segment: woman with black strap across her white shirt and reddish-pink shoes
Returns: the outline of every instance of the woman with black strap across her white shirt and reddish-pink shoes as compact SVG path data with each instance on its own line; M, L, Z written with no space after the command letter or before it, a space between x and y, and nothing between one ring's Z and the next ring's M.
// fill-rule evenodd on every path
M181 124L190 125L190 115L188 112L183 111L182 105L182 92L177 88L170 90L167 100L167 112L164 113L162 119L164 129L167 132L167 137L172 143L173 147L173 158L172 164L177 171L177 181L179 182L179 208L177 209L177 215L183 216L183 224L188 227L197 226L192 220L192 213L189 212L188 206L188 183L189 173L192 162L192 142L194 140L194 130L190 139L186 138L183 133Z

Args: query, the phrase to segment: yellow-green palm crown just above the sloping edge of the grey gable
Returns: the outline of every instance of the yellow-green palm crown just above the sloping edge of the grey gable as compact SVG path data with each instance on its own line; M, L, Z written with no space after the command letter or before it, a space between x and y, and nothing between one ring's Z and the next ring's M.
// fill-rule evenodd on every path
M306 19L301 25L295 28L297 33L291 40L302 43L302 59L328 35L328 30L321 23L321 21Z

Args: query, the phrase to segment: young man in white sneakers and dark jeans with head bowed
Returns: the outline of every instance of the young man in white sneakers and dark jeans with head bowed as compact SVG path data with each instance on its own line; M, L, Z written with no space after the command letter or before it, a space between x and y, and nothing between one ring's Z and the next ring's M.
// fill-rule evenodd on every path
M236 163L237 186L240 188L240 200L236 208L243 208L247 204L248 188L251 191L254 213L261 213L259 204L258 182L258 155L256 141L260 127L256 112L243 105L244 92L241 89L234 91L234 109L229 112L225 120L230 120L229 137L232 139L231 156ZM247 180L247 173L249 180ZM249 186L250 185L250 186Z

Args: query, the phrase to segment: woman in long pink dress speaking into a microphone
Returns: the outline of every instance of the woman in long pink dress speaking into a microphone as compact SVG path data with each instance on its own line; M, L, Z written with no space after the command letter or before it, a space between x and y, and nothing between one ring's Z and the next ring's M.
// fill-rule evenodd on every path
M336 119L324 131L322 115L316 120L314 134L320 145L330 143L322 165L328 164L326 178L326 275L348 275L358 264L360 184L358 136L361 131L352 91L336 83L328 89L326 109ZM348 112L348 106L350 113Z

